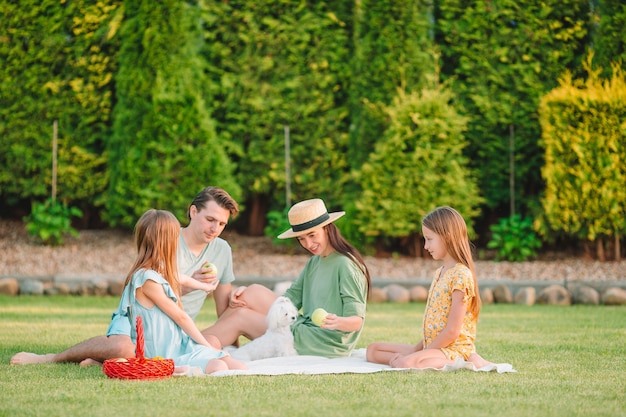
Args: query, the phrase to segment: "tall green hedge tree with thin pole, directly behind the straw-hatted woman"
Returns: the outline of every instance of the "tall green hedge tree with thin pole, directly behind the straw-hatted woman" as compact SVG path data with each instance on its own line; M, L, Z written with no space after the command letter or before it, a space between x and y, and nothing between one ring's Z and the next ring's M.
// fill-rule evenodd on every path
M212 103L218 133L232 141L237 180L261 217L263 201L265 209L285 206L285 127L293 200L341 195L350 3L203 3L204 55L220 85Z

